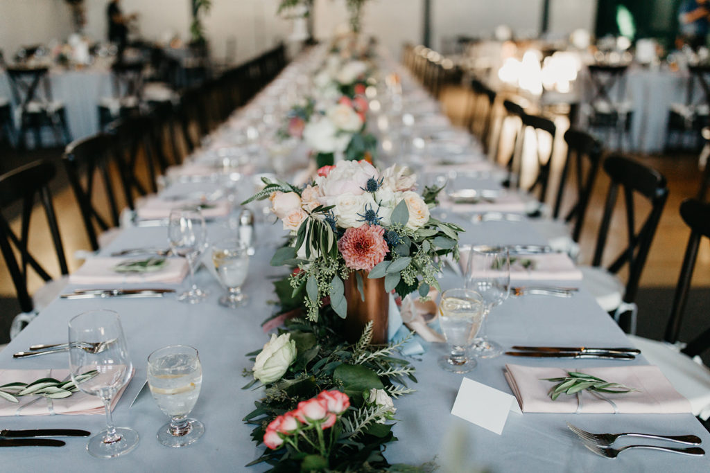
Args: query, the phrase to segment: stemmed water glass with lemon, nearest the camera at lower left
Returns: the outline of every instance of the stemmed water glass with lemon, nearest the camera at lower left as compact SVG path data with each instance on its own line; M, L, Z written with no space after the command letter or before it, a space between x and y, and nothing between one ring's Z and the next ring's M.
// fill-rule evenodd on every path
M158 442L185 447L202 437L202 422L187 417L197 403L201 386L202 365L195 348L172 345L151 353L148 387L160 411L170 416L170 422L158 430Z

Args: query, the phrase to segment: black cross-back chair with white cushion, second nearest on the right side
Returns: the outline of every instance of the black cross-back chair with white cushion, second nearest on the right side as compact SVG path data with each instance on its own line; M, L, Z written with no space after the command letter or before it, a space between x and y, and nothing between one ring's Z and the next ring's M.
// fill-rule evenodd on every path
M595 296L596 301L605 311L613 313L614 319L621 325L621 328L627 332L635 333L637 311L634 301L638 291L638 283L668 197L668 188L665 177L659 172L630 160L628 157L610 156L604 161L603 168L611 179L611 184L606 196L601 226L599 226L592 266L581 267L582 274L584 274L582 284ZM602 257L619 191L623 193L623 203L626 210L628 246L613 260L611 265L604 268L602 267ZM640 226L636 220L635 196L640 196L650 204L650 211ZM627 265L628 279L624 285L618 281L615 275ZM625 316L627 313L630 313L629 317ZM624 317L622 318L622 316Z

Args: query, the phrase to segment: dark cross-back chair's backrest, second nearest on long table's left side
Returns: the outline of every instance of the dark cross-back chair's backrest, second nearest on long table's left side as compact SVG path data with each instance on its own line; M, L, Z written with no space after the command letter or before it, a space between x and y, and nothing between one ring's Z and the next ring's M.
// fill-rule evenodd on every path
M102 231L119 226L115 177L121 179L121 187L124 193L126 191L124 170L121 169L121 162L114 154L114 137L107 133L99 133L76 140L67 145L63 158L69 182L82 212L89 242L92 250L96 251L99 249L99 240L95 226ZM100 197L96 195L99 191L94 192L94 184L97 182L104 189L104 195ZM102 216L96 205L103 204L104 199L109 206L108 218Z

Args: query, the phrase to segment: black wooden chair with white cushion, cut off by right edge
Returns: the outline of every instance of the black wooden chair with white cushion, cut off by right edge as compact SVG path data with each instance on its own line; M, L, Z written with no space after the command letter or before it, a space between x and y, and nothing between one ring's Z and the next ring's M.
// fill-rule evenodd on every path
M703 237L710 238L710 204L687 199L680 206L680 215L691 233L663 342L640 337L630 339L646 360L659 367L673 387L690 401L693 413L706 421L710 416L710 369L693 358L710 349L710 328L708 325L694 327L689 342L679 343L678 340L698 248ZM706 321L710 319L706 318ZM703 328L704 331L699 333Z

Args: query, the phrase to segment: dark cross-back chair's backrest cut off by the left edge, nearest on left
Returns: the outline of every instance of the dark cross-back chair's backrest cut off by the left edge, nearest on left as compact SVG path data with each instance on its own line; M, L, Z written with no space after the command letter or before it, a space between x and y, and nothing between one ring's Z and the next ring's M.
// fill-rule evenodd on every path
M35 196L39 197L40 204L44 208L60 271L62 274L69 274L49 189L49 183L54 175L55 167L50 162L35 161L0 176L0 209L8 208L17 202L21 204L19 235L12 230L6 216L0 213L0 250L10 271L23 312L33 310L32 299L27 289L28 266L45 281L52 279L28 250L29 237L31 234L35 235L34 232L30 232ZM19 262L15 250L20 254Z

